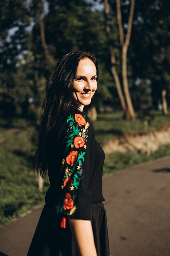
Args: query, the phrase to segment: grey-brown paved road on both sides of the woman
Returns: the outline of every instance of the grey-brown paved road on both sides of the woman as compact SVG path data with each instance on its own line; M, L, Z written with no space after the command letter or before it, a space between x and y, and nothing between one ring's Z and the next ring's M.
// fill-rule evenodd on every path
M103 178L112 256L170 256L170 157ZM27 254L42 207L0 230L0 256Z

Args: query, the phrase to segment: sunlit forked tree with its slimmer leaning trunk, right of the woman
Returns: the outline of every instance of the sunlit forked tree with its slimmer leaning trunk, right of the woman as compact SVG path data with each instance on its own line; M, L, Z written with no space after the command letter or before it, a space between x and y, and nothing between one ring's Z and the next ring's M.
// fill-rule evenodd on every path
M105 19L106 19L106 32L109 38L109 49L111 54L111 70L112 74L115 79L118 95L121 101L122 110L123 113L126 115L126 118L134 119L135 113L129 93L129 86L128 86L128 75L127 75L127 53L128 53L128 47L130 44L130 37L131 37L131 31L132 31L132 21L133 21L133 13L134 13L134 6L135 1L131 1L131 7L130 7L130 13L129 13L129 19L128 19L128 28L126 32L126 36L124 36L124 30L122 25L122 16L121 16L121 7L120 7L120 1L116 0L116 8L117 8L117 22L118 22L118 30L119 30L119 38L120 38L120 44L121 44L121 62L122 62L122 83L123 83L123 91L124 96L121 89L121 83L118 76L118 73L116 71L116 58L114 54L114 47L113 47L113 37L111 32L111 14L109 11L109 4L108 0L104 0L104 6L105 6ZM125 97L125 98L124 98Z

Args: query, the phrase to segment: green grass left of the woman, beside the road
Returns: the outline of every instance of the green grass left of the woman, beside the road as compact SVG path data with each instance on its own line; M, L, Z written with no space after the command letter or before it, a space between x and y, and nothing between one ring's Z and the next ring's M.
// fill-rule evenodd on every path
M33 127L0 129L0 226L43 203L42 193L35 183L31 143Z

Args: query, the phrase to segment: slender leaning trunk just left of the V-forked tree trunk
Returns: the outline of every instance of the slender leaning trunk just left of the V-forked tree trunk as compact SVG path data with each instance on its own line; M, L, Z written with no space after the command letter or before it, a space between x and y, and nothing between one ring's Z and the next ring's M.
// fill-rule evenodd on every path
M104 0L104 8L105 8L105 22L106 22L106 33L107 33L107 37L108 40L111 41L111 37L110 37L110 24L109 24L109 20L108 20L108 16L109 16L109 5L108 5L108 0ZM122 106L122 111L123 111L123 115L126 116L127 115L127 108L126 108L126 103L125 103L125 99L122 93L122 89L121 89L121 84L120 84L120 80L119 80L119 76L118 73L116 71L116 59L115 59L115 54L114 54L114 49L113 47L110 45L109 46L109 52L110 52L110 56L111 56L111 72L112 75L115 79L115 84L116 84L116 89L118 92L118 96L120 99L120 103Z

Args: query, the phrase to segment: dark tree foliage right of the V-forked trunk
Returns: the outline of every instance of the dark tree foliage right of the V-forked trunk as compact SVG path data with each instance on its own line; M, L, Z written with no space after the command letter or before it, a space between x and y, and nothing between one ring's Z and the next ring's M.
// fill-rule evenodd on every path
M132 77L150 80L153 108L166 90L170 102L169 1L139 0L135 7L130 61ZM165 98L164 98L165 99Z

